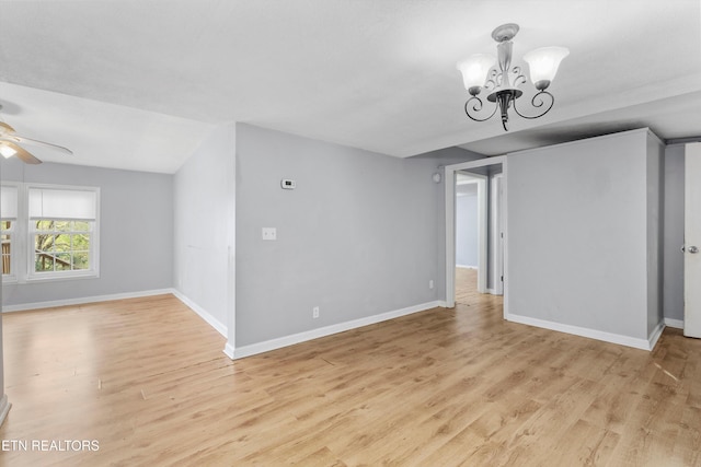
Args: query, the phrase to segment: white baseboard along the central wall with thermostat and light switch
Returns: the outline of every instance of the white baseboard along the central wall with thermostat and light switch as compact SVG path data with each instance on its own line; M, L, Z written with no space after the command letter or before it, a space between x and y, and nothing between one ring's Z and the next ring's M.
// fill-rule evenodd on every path
M225 353L232 359L242 359L244 357L251 357L257 353L268 352L271 350L280 349L287 346L294 346L295 343L306 342L308 340L318 339L320 337L326 337L333 334L356 329L363 326L374 325L376 323L386 322L388 319L398 318L400 316L424 312L426 310L435 308L437 306L440 306L440 302L438 301L423 303L421 305L409 306L406 308L395 310L393 312L387 312L379 315L374 315L365 318L354 319L350 322L340 323L337 325L325 326L318 329L295 334L291 336L285 336L285 337L279 337L277 339L266 340L264 342L257 342L257 343L252 343L250 346L238 347L234 349L230 349L229 343L227 343Z

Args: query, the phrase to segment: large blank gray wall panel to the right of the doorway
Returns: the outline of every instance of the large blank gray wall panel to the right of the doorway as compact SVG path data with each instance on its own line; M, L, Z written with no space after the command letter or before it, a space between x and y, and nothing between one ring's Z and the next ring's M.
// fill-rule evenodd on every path
M647 131L507 163L509 312L647 339Z

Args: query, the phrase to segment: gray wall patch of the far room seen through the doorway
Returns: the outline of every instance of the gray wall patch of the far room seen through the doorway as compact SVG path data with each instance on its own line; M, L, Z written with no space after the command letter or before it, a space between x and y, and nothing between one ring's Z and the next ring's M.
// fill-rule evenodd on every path
M469 188L468 188L469 187ZM478 267L476 185L458 186L456 198L456 264Z

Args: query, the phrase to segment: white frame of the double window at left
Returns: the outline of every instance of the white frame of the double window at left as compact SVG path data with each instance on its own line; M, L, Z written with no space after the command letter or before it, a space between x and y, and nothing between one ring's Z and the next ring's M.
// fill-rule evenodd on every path
M11 271L13 275L3 276L2 283L36 283L47 281L61 281L72 279L94 279L100 277L100 188L76 185L56 184L34 184L34 183L10 183L2 182L2 185L18 186L18 219L14 224L14 237L11 240ZM53 189L91 191L95 194L95 219L90 221L90 269L64 270L54 272L36 272L34 270L34 233L32 227L34 220L30 219L28 196L30 189ZM15 242L16 241L16 242Z

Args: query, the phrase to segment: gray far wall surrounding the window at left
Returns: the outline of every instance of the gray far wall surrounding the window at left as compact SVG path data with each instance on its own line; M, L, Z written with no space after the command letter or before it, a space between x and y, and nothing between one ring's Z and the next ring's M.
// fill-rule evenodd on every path
M171 175L0 161L2 179L101 188L100 278L3 285L4 306L134 293L172 287Z

